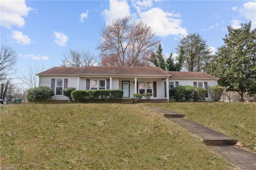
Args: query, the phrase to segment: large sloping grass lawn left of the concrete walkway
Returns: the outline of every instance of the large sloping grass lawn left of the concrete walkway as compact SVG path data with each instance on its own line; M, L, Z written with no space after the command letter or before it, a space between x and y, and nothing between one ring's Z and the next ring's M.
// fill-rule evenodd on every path
M0 130L1 166L18 169L235 168L186 129L139 105L1 107Z

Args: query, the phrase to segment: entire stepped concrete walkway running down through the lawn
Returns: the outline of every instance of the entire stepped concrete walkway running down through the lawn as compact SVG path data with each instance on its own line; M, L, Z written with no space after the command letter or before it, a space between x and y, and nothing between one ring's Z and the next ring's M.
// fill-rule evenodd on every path
M184 119L184 114L156 107L150 107L150 109L162 113L167 119L188 129L201 138L204 144L212 148L214 152L220 154L230 162L233 162L241 170L256 170L256 154L234 146L237 142L236 139L188 119Z

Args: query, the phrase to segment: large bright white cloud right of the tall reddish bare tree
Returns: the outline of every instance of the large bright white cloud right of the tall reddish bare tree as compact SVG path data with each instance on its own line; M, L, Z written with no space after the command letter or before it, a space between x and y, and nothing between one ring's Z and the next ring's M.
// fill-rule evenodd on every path
M140 20L150 26L156 36L166 37L169 35L186 35L186 28L182 28L182 20L175 18L180 14L174 14L173 12L164 12L160 8L151 8L146 12L139 14Z

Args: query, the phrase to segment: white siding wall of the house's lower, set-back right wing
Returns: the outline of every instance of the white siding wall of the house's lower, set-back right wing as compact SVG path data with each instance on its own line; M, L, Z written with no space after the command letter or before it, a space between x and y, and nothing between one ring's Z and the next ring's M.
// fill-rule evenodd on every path
M194 82L202 82L204 87L204 82L207 82L208 86L212 87L218 84L216 79L169 79L169 82L179 82L179 85L191 85L194 86ZM174 83L175 85L175 83ZM205 87L204 87L205 88ZM208 92L208 97L205 98L205 101L212 101L212 97Z

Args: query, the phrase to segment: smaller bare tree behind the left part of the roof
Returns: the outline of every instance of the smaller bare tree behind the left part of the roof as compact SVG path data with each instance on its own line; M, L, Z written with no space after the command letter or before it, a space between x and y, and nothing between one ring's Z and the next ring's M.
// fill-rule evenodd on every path
M97 64L97 57L90 50L69 49L62 55L64 59L61 60L61 67L84 67Z

